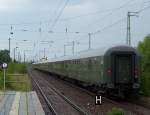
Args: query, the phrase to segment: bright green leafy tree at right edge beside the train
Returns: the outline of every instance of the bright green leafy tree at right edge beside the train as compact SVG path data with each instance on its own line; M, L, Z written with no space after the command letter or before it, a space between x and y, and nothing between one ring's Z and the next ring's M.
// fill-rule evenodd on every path
M150 35L139 42L138 50L141 54L141 89L146 96L150 96Z

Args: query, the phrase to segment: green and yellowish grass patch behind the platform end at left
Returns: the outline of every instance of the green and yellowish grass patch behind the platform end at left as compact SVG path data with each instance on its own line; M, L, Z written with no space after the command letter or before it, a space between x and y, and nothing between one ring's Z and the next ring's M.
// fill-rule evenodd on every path
M3 90L3 70L0 71L0 89ZM9 63L6 70L6 90L30 91L31 81L27 75L26 65Z

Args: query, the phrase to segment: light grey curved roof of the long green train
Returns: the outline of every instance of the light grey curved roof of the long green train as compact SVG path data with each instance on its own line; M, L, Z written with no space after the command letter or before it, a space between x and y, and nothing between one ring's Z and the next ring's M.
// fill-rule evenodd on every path
M133 51L137 54L137 51L133 47L130 47L127 45L118 45L118 46L105 47L105 48L99 48L99 49L85 50L85 51L78 52L72 56L63 56L63 57L47 60L44 62L38 62L35 64L59 62L59 61L65 61L65 60L82 59L82 58L104 56L104 55L107 56L107 55L110 55L111 52L113 51Z

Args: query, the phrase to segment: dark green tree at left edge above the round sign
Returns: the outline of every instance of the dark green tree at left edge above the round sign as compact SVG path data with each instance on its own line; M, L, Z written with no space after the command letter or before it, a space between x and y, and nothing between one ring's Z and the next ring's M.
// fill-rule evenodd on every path
M6 62L6 63L11 61L8 50L0 50L0 61Z

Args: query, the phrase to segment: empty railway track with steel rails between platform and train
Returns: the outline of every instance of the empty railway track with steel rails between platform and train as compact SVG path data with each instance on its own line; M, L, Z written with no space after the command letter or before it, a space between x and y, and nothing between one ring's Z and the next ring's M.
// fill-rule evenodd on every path
M46 80L33 74L31 75L31 73L30 76L46 101L52 115L89 115L89 113L82 110L74 102L61 94L61 92L50 85Z

